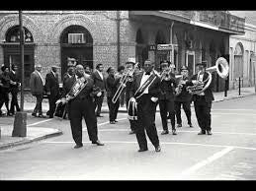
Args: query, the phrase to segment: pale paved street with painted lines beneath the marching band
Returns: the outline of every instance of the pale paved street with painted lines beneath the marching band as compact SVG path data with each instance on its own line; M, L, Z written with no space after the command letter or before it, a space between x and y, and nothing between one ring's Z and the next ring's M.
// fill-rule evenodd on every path
M108 113L98 118L103 147L92 145L83 122L81 149L74 142L68 120L40 119L28 114L31 127L60 129L63 135L0 151L1 180L253 180L256 179L256 96L214 102L213 135L200 131L194 107L192 123L178 135L160 135L159 112L156 127L161 152L148 140L149 151L138 153L135 135L128 135L127 113L119 113L117 124ZM1 119L2 120L2 119ZM40 122L41 123L37 123ZM170 122L168 123L171 129Z

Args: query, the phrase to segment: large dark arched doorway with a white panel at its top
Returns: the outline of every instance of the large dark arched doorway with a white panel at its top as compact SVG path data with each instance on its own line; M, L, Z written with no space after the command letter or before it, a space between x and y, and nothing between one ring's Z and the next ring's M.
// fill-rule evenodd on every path
M61 78L67 71L69 60L77 64L89 65L93 69L93 38L82 26L69 26L60 35Z

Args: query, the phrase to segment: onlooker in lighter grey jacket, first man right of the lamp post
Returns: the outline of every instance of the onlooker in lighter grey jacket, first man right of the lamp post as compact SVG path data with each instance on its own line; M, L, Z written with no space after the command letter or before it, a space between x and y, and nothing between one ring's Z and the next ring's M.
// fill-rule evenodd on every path
M43 101L43 86L44 86L44 79L41 74L42 66L41 64L36 65L36 70L31 74L30 79L30 87L31 87L31 93L33 96L36 96L37 98L37 104L34 108L34 111L32 113L33 116L37 117L37 113L39 112L39 117L45 118L43 116L43 110L42 110L42 101Z

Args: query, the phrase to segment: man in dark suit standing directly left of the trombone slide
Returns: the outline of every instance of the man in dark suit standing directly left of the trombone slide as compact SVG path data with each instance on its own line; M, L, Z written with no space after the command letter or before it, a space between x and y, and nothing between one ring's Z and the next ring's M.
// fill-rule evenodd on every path
M120 107L120 98L116 100L114 103L112 101L113 96L117 92L120 81L122 79L121 75L115 76L115 69L113 67L109 67L107 70L109 76L106 79L106 90L107 90L107 102L109 106L109 119L111 124L115 124L117 121L117 115Z

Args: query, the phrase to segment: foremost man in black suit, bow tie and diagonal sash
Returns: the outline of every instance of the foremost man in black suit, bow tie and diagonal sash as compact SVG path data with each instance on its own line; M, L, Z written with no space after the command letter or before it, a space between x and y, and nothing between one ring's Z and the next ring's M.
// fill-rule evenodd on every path
M148 150L146 134L156 152L160 152L159 139L155 127L155 112L158 96L160 94L160 77L153 70L154 64L150 60L144 61L144 72L134 76L132 95L137 102L137 127L135 129L138 142L138 152Z

